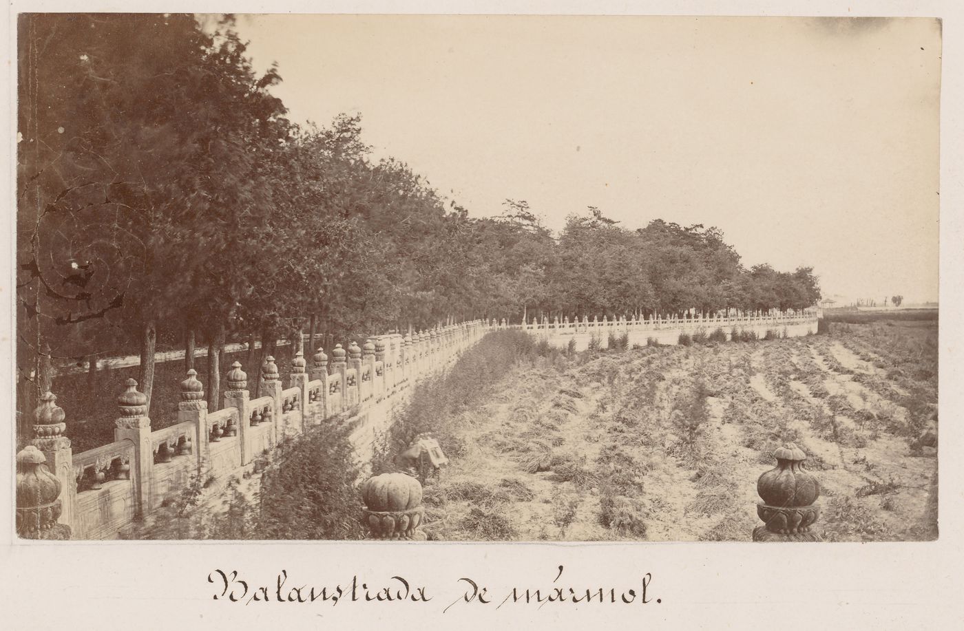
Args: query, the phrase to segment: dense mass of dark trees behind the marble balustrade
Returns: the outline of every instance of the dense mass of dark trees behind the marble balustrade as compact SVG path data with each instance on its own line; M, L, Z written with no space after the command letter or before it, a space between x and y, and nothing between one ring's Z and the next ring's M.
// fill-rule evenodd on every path
M18 53L21 412L52 363L136 348L149 396L158 344L206 344L216 401L228 340L819 298L812 269L745 269L712 227L470 218L371 160L359 117L289 120L230 16L21 14Z

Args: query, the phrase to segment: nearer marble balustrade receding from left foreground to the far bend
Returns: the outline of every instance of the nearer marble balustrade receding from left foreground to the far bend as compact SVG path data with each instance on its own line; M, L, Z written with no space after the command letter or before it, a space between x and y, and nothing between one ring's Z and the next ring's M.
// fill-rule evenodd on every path
M73 454L66 414L47 392L35 411L32 444L61 482L60 524L71 539L114 539L135 519L155 510L190 483L201 467L215 479L239 473L286 436L322 422L354 424L360 460L370 459L375 434L388 427L391 408L418 379L436 373L494 327L472 321L401 335L372 337L360 346L318 349L310 366L299 351L287 387L272 356L246 372L228 371L224 408L208 413L203 384L189 370L180 383L177 422L154 431L147 397L127 380L118 397L114 442ZM249 390L257 380L261 396Z

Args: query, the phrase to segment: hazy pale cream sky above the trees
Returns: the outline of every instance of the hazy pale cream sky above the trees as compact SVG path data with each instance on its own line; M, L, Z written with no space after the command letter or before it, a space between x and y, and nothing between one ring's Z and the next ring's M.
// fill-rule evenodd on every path
M241 15L296 121L361 113L474 216L721 228L824 297L938 294L933 19Z

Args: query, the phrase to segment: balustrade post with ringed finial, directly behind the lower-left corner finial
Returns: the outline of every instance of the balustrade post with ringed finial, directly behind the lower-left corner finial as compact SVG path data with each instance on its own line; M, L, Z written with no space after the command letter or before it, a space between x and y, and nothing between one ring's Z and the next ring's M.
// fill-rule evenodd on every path
M34 410L34 438L31 444L40 450L47 470L61 483L60 523L72 523L76 513L77 480L73 475L73 450L67 438L66 414L57 405L57 395L46 392Z

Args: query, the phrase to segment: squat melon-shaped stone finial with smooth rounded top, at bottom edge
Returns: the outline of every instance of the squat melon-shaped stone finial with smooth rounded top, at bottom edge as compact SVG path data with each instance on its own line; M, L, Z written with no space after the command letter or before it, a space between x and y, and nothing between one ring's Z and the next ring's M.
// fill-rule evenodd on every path
M383 473L362 485L362 525L372 539L424 539L422 487L404 473Z

